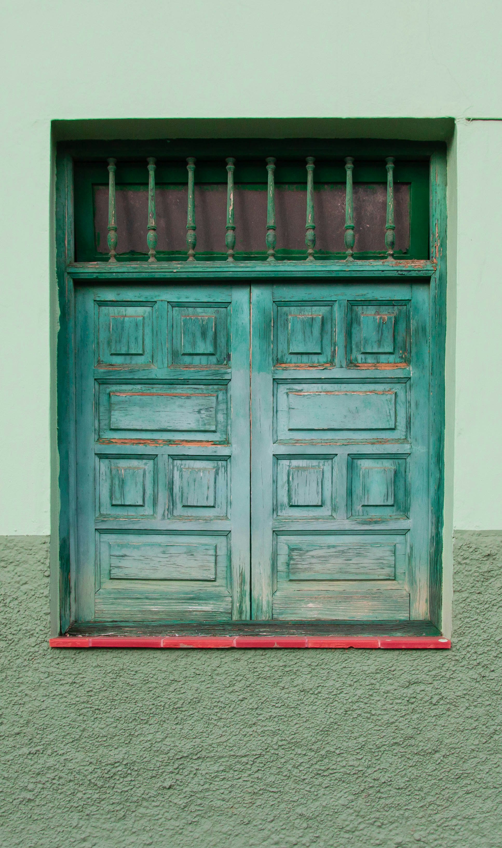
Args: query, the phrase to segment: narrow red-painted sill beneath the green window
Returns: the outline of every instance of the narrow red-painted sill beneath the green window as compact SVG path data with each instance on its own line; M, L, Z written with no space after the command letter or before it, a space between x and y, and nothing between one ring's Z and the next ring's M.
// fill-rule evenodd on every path
M451 648L443 636L58 636L51 648Z

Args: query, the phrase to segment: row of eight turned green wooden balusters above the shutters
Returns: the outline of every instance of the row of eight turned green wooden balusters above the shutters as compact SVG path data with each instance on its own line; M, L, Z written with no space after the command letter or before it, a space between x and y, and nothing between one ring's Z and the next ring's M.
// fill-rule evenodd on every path
M276 159L268 156L266 161L267 170L267 220L265 233L265 246L267 251L267 262L276 261L276 197L274 173L276 170ZM305 245L307 248L307 262L315 261L315 214L314 214L314 156L307 156L307 223L305 225ZM395 244L394 224L394 198L393 198L393 169L394 159L388 156L385 160L387 168L387 219L385 226L385 249L388 259L393 257ZM156 262L157 248L157 222L155 213L155 159L149 156L148 163L148 228L147 246L148 262ZM187 261L195 261L195 248L197 245L197 227L195 226L195 163L192 156L187 158L188 171L188 208L187 208ZM228 262L235 260L236 226L234 222L234 171L236 160L229 156L226 159L227 192L226 192L226 259ZM109 170L109 222L108 222L108 246L109 261L117 261L117 215L115 207L115 171L116 159L108 159ZM345 232L344 244L347 259L354 259L354 194L352 186L352 172L354 170L354 158L345 158L346 171L346 195L345 195Z

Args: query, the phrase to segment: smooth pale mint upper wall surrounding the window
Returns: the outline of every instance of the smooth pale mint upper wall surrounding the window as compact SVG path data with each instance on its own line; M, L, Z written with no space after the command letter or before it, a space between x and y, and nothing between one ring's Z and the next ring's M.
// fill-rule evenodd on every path
M0 534L50 532L51 121L189 117L459 120L447 497L455 527L502 527L502 126L464 120L502 118L501 25L486 0L4 0Z

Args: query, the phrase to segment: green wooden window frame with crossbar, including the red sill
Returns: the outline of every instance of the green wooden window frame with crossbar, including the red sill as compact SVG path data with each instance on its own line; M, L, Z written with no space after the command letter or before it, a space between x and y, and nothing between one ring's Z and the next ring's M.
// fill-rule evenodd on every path
M204 142L196 142L204 149ZM215 142L205 142L215 145ZM242 144L242 140L237 142ZM265 142L264 142L265 143ZM254 144L254 142L253 142ZM268 142L270 148L270 142ZM167 142L154 142L156 148ZM193 143L183 142L185 149ZM220 144L222 147L222 145ZM248 260L162 261L152 268L144 261L75 262L74 256L74 161L106 159L109 156L135 156L152 151L152 142L64 142L56 156L56 274L59 295L59 334L57 344L57 404L59 449L59 637L54 647L365 647L365 648L445 648L449 640L441 635L442 562L443 562L443 467L444 467L444 355L446 333L446 147L443 142L391 141L316 141L273 142L275 150L285 154L301 149L303 153L332 157L350 151L371 159L404 156L430 163L430 259L322 259L285 260L270 264ZM143 149L144 148L144 149ZM223 148L223 147L222 147ZM225 142L228 150L228 142ZM264 148L265 149L265 148ZM326 153L325 153L326 154ZM430 492L429 535L429 622L300 622L298 627L280 622L228 622L226 624L155 625L140 629L124 624L106 628L99 622L79 626L72 621L75 609L75 410L73 370L74 284L86 280L142 282L152 277L163 282L287 282L300 277L317 282L327 280L390 281L406 277L430 280L431 326L431 416L430 416ZM286 622L285 622L286 623ZM161 631L161 633L159 633Z

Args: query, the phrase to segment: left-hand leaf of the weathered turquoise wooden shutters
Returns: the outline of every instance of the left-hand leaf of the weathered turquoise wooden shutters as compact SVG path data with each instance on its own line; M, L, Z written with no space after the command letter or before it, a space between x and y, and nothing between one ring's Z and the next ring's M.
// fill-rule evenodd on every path
M248 619L248 287L81 287L75 316L78 618Z

